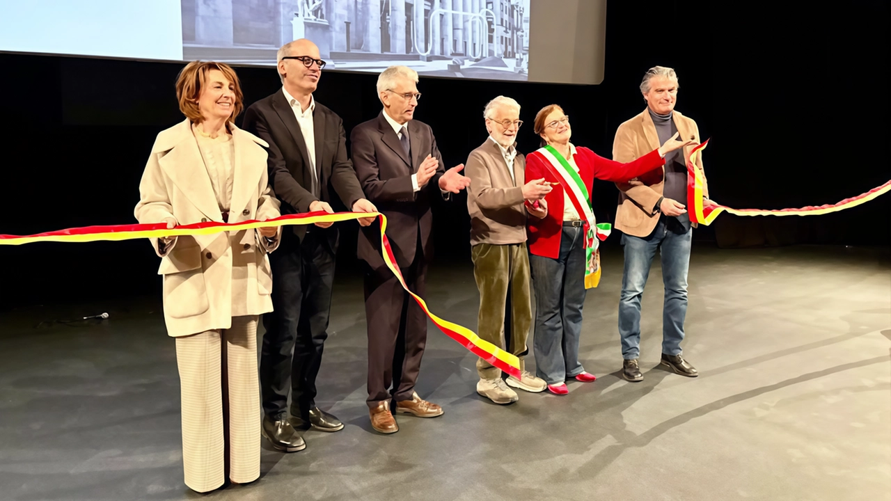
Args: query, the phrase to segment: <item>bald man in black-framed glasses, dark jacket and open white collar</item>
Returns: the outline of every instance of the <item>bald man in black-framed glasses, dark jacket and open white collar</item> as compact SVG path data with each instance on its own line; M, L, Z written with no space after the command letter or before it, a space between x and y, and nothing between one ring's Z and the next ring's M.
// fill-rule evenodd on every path
M329 202L335 196L354 212L374 212L347 157L342 120L313 98L324 64L318 47L307 39L282 46L282 90L251 104L244 128L269 144L269 183L282 201L282 214L331 213ZM359 219L363 226L372 221ZM295 428L343 428L336 417L315 406L338 230L331 223L291 228L283 232L279 251L270 259L274 311L263 317L266 335L260 358L262 431L274 448L286 452L307 447ZM288 390L290 420L285 408Z

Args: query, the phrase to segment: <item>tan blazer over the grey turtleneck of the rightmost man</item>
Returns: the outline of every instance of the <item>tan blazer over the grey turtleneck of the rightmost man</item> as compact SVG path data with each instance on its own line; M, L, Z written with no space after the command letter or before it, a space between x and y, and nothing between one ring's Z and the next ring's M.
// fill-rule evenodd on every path
M691 136L699 143L699 127L693 119L684 117L680 112L672 114L674 127L680 133L680 139L690 139ZM657 149L660 146L656 126L650 112L644 109L633 119L627 120L618 126L616 140L613 142L613 160L629 162ZM695 145L683 148L683 160L690 160L690 152ZM702 178L706 174L702 169L702 155L696 159L696 167L702 172ZM665 187L665 166L653 170L642 177L632 179L628 183L617 183L619 193L618 209L616 209L616 228L625 234L645 237L652 233L659 220L659 214L655 211L656 202L662 197ZM708 185L704 184L702 193L708 198ZM689 209L689 207L688 207ZM694 224L693 227L696 227Z

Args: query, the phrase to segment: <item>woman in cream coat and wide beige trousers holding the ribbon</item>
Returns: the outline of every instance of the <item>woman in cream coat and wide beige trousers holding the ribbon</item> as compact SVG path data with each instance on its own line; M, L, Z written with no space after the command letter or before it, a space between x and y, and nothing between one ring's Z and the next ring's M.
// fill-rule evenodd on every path
M278 217L266 176L268 145L233 123L242 94L232 68L191 62L177 78L176 96L186 119L155 140L136 219L173 228ZM185 484L198 492L225 483L227 441L230 480L260 474L257 317L273 309L266 253L279 234L264 228L151 241L161 258L164 320L176 338Z

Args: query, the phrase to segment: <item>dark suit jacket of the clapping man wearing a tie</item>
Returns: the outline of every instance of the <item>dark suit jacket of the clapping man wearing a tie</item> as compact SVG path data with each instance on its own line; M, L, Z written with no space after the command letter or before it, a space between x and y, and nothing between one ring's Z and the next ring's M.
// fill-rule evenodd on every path
M446 173L446 168L433 130L418 120L409 120L406 127L411 159L405 155L399 136L384 118L383 111L376 119L357 125L350 134L356 174L368 200L387 216L387 237L399 267L409 267L415 259L419 232L424 253L421 258L432 257L430 203L435 197L449 198L439 190L439 177ZM412 175L427 155L439 160L437 173L414 193ZM380 257L378 224L361 228L356 247L359 259L364 259L372 269L386 266Z

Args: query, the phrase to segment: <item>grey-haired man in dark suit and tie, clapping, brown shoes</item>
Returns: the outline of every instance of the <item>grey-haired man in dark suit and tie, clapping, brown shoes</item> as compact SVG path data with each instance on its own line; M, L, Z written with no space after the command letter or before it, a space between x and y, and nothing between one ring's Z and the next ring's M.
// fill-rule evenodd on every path
M433 131L413 120L418 105L418 74L405 66L380 73L378 97L383 111L356 126L350 135L356 174L368 199L388 218L387 237L408 287L425 294L432 256L430 202L448 199L470 185L463 165L446 170ZM414 383L427 342L427 317L402 288L380 256L380 226L363 228L358 256L365 271L368 324L368 407L372 427L398 431L390 411L419 417L442 415L442 407L421 399ZM391 389L392 387L392 389Z

